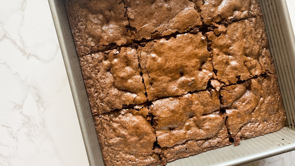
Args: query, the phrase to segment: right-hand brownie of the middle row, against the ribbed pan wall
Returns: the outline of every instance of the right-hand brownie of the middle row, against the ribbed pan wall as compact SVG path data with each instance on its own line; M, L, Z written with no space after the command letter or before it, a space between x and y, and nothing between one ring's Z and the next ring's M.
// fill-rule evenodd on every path
M262 17L216 26L207 35L212 40L212 62L219 81L228 85L275 72Z

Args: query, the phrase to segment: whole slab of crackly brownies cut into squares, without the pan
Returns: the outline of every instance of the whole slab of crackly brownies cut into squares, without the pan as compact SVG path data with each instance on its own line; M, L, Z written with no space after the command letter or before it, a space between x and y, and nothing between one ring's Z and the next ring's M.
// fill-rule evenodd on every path
M285 125L258 0L65 3L106 165L165 164Z

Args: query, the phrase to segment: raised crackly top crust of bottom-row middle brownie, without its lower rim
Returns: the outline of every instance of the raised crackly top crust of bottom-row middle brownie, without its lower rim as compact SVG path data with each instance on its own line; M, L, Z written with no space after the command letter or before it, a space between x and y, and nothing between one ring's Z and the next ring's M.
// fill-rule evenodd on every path
M154 127L161 147L212 138L224 127L217 91L159 99L150 109L155 116Z

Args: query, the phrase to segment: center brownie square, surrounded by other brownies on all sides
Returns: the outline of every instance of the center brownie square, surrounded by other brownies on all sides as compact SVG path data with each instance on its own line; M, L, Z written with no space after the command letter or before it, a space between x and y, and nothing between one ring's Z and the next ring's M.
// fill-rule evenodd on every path
M213 76L207 41L201 33L148 42L138 55L150 101L204 90Z

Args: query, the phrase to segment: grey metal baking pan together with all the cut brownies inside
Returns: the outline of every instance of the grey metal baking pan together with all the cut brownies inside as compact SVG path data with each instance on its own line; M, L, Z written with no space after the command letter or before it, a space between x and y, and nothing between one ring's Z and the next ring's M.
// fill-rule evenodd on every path
M295 149L285 0L48 0L89 164L240 165Z

